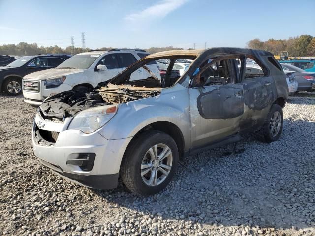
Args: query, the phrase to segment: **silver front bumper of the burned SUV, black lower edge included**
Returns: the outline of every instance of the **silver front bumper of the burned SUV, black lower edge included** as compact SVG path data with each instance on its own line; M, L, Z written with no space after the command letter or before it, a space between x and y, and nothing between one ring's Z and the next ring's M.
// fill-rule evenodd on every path
M107 140L98 132L85 134L79 130L66 130L70 120L66 118L64 123L55 123L37 114L32 129L35 155L45 166L72 182L97 189L115 188L121 160L131 137ZM59 132L56 142L40 141L42 137L38 137L38 130ZM67 163L69 160L79 160L82 153L95 154L93 167L89 171Z

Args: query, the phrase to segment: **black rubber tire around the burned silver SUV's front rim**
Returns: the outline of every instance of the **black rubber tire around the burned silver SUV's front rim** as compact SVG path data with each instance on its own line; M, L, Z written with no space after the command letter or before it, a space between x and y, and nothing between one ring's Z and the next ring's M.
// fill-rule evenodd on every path
M156 186L149 186L141 176L141 165L147 151L156 144L165 144L172 151L172 167L167 177ZM121 165L121 177L125 186L132 192L141 195L152 195L160 192L172 180L178 165L178 148L174 139L166 133L150 130L139 134L131 141ZM157 168L158 170L158 168Z

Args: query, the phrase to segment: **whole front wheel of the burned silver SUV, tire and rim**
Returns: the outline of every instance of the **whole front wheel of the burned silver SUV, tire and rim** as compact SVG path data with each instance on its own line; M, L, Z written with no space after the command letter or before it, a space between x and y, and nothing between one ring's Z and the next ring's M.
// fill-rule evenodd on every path
M178 148L173 138L160 131L147 131L128 146L122 162L122 180L132 192L156 194L172 180L177 165Z

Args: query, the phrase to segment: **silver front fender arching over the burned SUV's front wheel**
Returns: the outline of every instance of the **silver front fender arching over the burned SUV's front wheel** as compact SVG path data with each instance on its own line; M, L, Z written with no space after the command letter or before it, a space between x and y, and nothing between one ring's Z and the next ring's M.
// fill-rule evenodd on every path
M117 114L99 133L108 140L128 138L158 121L175 124L182 132L185 151L189 151L191 129L188 88L176 84L162 89L156 97L120 104Z

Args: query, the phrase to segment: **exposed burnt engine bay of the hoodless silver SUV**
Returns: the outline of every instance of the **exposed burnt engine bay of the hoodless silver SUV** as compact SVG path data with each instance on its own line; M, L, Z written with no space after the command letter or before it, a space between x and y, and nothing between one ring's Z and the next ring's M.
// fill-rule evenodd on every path
M90 107L131 102L158 96L161 88L108 84L96 89L66 91L47 98L41 111L47 116L69 117Z

